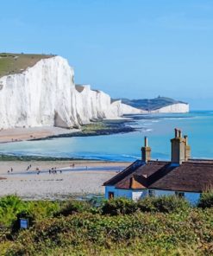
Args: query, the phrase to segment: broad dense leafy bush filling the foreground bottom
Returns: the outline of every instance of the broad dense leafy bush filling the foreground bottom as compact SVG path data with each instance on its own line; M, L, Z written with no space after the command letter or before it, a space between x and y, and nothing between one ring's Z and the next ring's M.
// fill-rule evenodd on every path
M212 214L191 208L187 214L60 216L20 233L6 255L211 255Z

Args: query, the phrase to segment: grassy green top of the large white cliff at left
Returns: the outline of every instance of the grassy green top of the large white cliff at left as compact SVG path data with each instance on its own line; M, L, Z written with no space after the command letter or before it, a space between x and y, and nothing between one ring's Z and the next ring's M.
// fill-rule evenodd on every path
M22 73L28 67L33 67L41 59L51 57L53 55L0 53L0 78L4 75Z

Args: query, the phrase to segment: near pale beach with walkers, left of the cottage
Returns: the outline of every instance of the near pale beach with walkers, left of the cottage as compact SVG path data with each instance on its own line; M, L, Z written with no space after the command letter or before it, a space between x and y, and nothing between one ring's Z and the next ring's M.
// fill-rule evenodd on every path
M73 195L100 195L104 193L103 182L128 164L86 161L1 162L0 196L16 194L30 200L61 200ZM53 174L52 168L56 168L57 172Z

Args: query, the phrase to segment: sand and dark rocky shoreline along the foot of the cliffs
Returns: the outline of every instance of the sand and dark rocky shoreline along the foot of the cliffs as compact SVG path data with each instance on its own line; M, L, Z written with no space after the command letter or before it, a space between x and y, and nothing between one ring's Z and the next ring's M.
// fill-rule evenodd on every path
M132 123L135 123L134 118L119 118L91 122L91 124L82 125L80 129L66 129L55 126L11 128L0 130L0 144L52 138L87 137L127 133L137 130L128 126L128 124Z

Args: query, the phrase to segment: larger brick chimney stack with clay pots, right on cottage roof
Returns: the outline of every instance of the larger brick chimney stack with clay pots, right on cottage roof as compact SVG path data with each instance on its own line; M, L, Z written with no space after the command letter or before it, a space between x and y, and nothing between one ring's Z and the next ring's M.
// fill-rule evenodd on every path
M181 164L185 162L185 138L182 138L182 132L175 128L175 138L171 139L172 143L172 163Z

